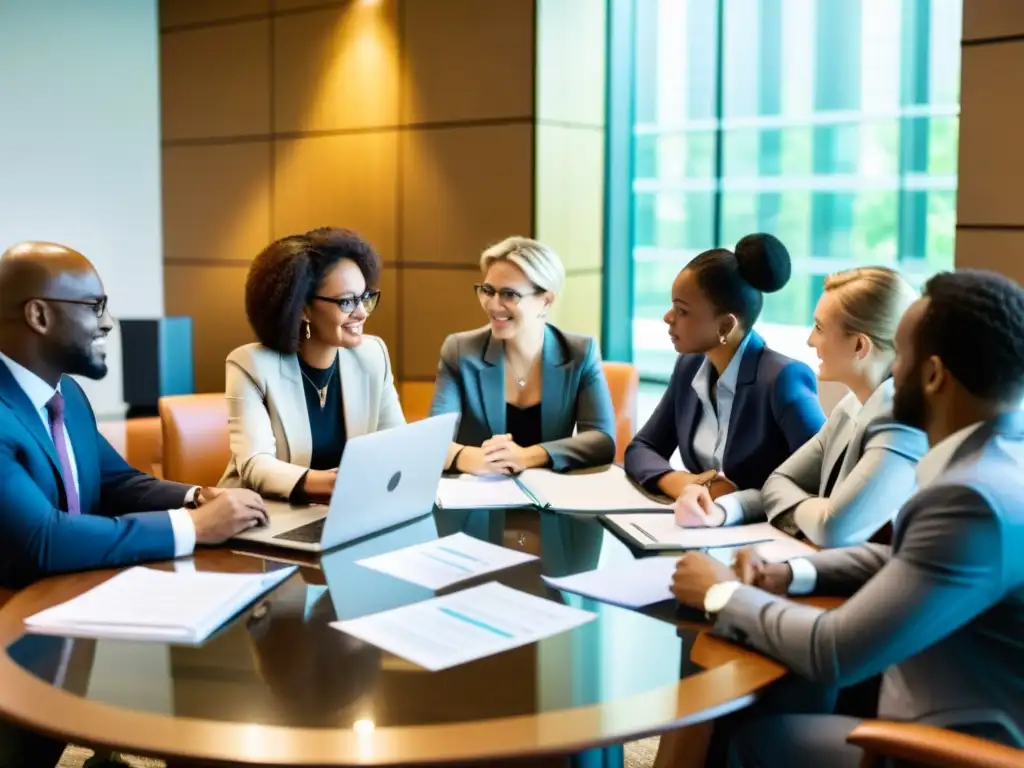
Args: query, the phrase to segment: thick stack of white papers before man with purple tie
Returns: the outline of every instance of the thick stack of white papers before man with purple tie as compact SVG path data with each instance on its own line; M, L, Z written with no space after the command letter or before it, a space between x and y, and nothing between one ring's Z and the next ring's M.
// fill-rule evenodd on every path
M41 635L198 644L297 570L170 571L137 566L25 620Z

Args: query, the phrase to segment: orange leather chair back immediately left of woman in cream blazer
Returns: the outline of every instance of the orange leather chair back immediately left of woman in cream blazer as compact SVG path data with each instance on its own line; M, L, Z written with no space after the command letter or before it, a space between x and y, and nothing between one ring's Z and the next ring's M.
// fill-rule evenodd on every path
M216 485L231 458L223 393L161 397L159 408L164 479Z

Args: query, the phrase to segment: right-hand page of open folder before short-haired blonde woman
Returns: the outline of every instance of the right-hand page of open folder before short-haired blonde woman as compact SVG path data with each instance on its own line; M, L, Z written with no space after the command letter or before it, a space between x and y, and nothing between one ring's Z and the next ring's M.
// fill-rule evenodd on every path
M558 512L672 511L672 504L644 494L614 465L569 474L527 469L519 482L542 505Z

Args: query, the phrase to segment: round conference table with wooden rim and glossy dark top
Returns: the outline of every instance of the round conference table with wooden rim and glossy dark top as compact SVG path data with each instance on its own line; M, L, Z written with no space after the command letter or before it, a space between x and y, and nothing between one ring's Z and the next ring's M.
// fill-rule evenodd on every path
M540 642L427 672L330 626L434 596L356 561L463 531L538 559L485 581L593 611ZM750 705L785 674L671 603L643 611L549 588L637 557L592 517L439 510L305 557L229 546L156 567L298 570L202 645L25 635L23 620L115 571L42 581L0 607L0 716L69 742L173 765L621 766L623 742ZM545 762L547 764L547 762Z

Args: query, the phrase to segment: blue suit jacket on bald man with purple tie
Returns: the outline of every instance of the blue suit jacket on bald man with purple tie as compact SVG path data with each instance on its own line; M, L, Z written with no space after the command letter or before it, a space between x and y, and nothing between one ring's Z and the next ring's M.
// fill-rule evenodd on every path
M29 396L0 361L2 588L16 589L51 573L174 557L166 510L181 507L191 486L132 469L96 430L96 418L78 383L66 376L60 391L78 465L82 514L74 517L68 515L53 440ZM150 510L154 513L137 514Z

